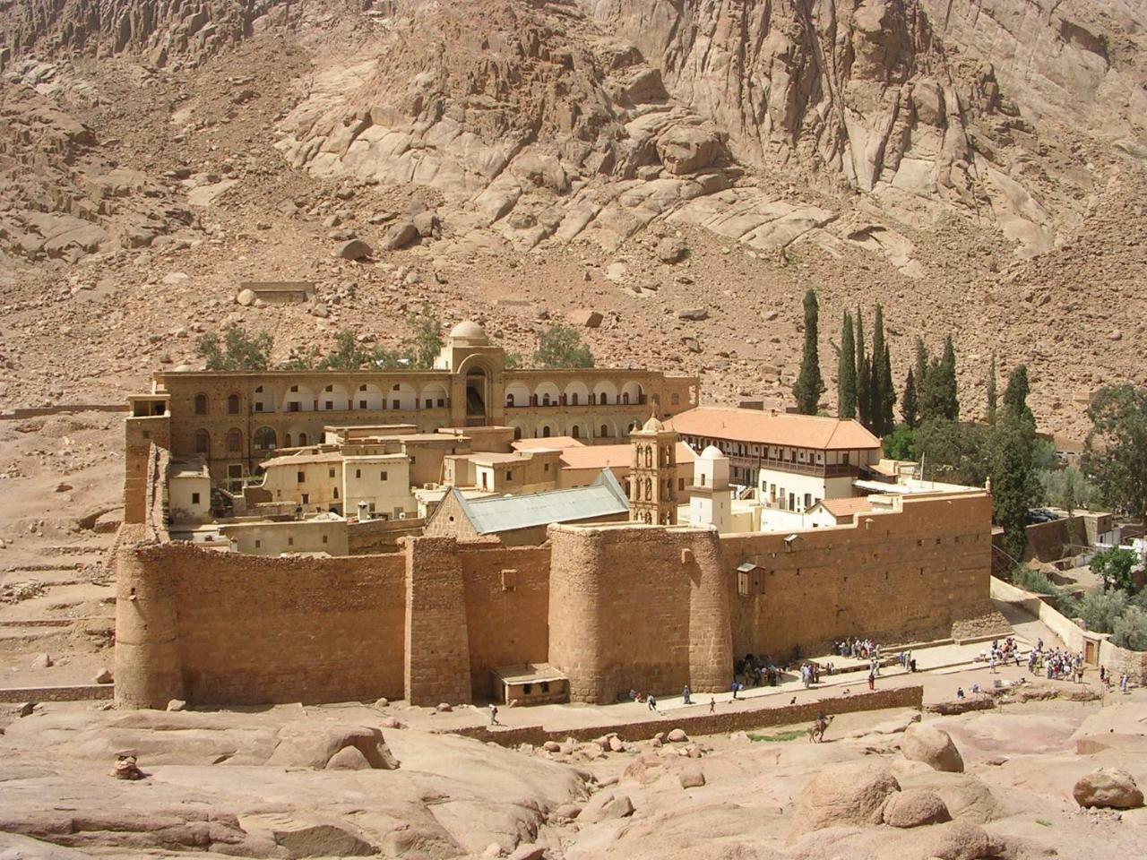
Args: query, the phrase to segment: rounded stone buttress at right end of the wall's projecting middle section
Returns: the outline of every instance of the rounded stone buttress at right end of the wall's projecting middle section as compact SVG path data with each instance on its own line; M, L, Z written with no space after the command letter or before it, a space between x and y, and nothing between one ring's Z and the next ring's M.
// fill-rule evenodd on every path
M728 588L716 529L689 532L689 687L727 690L733 666Z

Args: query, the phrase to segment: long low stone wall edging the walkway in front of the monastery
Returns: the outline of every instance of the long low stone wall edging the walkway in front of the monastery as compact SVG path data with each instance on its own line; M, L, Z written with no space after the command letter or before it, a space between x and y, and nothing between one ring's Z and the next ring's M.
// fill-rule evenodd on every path
M726 713L704 713L696 717L672 716L662 719L641 720L640 722L623 722L617 725L584 726L582 728L549 730L544 726L524 726L522 728L491 729L487 726L444 730L442 734L463 735L478 741L493 742L501 746L517 746L530 743L540 746L546 741L592 741L609 733L617 733L623 741L648 741L658 732L680 728L690 737L694 735L723 735L731 732L748 732L770 726L790 726L802 722L812 724L817 714L856 713L858 711L879 711L885 707L923 706L923 687L896 687L875 693L860 693L848 697L821 698L799 705L782 707L765 707L756 711L729 711ZM699 696L699 699L702 697ZM751 699L750 699L751 701ZM703 703L703 701L702 701ZM728 707L721 703L719 707Z

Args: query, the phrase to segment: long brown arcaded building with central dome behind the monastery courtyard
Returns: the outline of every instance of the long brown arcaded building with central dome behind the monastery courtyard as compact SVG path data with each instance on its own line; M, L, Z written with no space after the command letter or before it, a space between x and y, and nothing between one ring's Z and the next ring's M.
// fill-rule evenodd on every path
M507 369L506 354L474 322L446 338L431 370L155 375L151 392L131 398L128 453L149 441L198 455L216 484L241 479L281 448L322 440L331 424L442 428L502 425L515 438L624 439L650 414L670 417L697 405L699 381L655 370Z

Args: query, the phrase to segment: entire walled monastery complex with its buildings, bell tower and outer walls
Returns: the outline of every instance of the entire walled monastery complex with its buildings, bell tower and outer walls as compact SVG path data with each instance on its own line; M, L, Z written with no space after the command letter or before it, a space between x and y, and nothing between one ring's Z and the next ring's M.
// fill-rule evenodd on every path
M512 678L608 703L998 620L985 491L902 476L856 422L699 394L507 370L471 322L430 373L157 375L126 421L118 702L435 704Z

